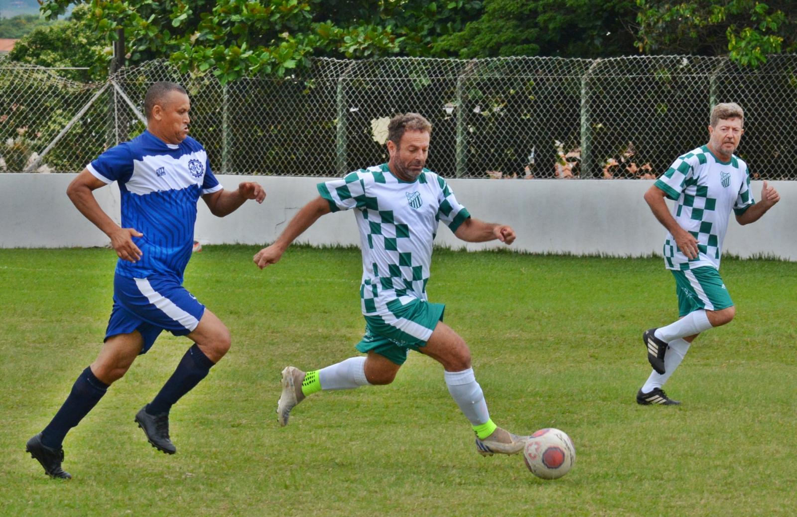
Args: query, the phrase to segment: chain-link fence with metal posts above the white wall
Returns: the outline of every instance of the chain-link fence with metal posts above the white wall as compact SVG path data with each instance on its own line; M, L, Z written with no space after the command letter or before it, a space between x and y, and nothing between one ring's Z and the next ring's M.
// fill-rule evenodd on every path
M83 84L0 61L0 170L78 171L143 131L155 80L186 86L191 135L222 174L330 176L387 160L387 120L432 122L427 166L463 178L650 178L708 139L735 101L737 154L760 178L797 179L797 55L740 69L725 57L602 60L317 59L287 80L222 85L163 61Z

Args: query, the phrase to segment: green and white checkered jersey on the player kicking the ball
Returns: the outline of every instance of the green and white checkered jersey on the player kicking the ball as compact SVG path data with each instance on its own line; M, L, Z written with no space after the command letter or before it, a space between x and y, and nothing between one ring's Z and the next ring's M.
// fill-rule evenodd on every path
M412 300L426 300L439 221L454 232L470 217L446 181L426 169L414 182L404 182L385 163L319 183L318 191L333 212L355 209L364 315L387 315Z

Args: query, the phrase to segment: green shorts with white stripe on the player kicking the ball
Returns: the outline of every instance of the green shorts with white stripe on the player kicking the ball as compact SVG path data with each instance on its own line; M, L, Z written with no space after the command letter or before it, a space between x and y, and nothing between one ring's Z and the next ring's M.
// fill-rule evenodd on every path
M376 352L402 365L410 350L426 345L445 310L444 304L413 300L388 315L364 316L365 335L357 350Z

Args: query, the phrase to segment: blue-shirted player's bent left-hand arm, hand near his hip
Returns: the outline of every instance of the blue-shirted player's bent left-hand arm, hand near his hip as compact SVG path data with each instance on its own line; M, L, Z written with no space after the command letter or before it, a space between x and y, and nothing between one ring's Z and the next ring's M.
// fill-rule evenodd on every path
M135 228L120 228L108 214L101 208L94 198L93 190L105 186L105 182L95 178L94 175L84 169L83 172L73 179L66 189L66 195L73 202L77 210L80 210L86 219L92 221L94 225L111 239L111 245L116 251L116 256L128 262L135 262L141 258L141 250L132 241L132 237L143 237Z

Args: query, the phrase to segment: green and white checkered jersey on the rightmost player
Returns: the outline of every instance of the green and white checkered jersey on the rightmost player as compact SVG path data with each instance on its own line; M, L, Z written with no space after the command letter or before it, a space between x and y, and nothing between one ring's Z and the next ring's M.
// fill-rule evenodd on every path
M729 162L720 162L709 147L698 147L679 156L655 185L675 200L673 217L697 239L699 251L697 258L687 258L667 232L664 241L667 268L719 269L731 210L740 215L755 203L747 164L734 155Z

